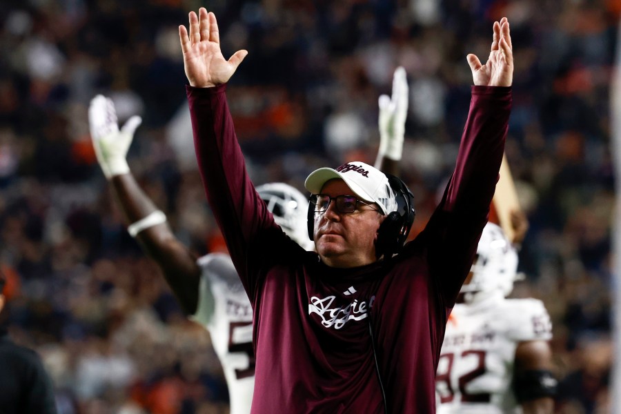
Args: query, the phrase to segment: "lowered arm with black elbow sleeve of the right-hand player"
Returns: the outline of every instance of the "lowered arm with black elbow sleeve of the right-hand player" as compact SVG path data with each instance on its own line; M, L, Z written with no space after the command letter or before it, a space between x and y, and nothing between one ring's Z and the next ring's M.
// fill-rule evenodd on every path
M520 342L515 350L513 391L524 414L551 414L556 380L547 341Z

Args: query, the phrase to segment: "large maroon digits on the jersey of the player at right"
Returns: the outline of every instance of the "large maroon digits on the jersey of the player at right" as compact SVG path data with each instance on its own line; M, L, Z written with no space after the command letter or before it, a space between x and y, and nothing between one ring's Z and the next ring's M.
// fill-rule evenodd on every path
M491 395L489 393L473 394L466 391L466 386L469 382L485 373L485 351L464 351L460 357L464 358L469 355L474 355L476 357L477 366L457 378L457 386L462 394L462 402L489 402L491 400ZM453 398L455 398L453 391L454 388L451 384L451 371L453 370L453 360L455 359L455 354L444 353L440 355L440 359L442 358L448 359L446 371L443 373L437 373L435 375L435 382L444 382L446 384L446 393L444 393L444 395L440 395L440 403L444 404L446 402L453 401ZM440 364L438 364L438 366L440 366Z

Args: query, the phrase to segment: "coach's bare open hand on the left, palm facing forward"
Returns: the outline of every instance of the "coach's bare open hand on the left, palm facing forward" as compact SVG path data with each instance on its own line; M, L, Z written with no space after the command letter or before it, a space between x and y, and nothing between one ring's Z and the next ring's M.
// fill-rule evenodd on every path
M184 68L190 86L208 88L226 83L248 55L237 50L230 59L224 59L220 50L218 23L213 12L200 8L199 14L190 12L190 34L186 26L179 26L179 41L184 52Z

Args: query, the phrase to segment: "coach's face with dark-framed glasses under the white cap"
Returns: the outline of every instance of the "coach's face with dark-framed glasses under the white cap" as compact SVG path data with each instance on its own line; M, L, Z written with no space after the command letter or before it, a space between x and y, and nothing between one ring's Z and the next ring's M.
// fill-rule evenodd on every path
M322 194L330 197L355 195L342 179L324 184ZM379 210L379 206L375 206ZM339 213L331 201L324 213L315 213L313 237L322 261L328 266L351 268L375 262L377 229L386 216L372 206L357 204L353 213Z

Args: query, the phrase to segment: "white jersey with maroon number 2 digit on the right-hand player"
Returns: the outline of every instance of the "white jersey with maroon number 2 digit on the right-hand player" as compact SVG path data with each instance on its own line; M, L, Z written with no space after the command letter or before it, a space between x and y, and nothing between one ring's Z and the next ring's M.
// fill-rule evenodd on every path
M499 294L456 304L437 365L437 413L521 413L511 384L515 348L519 342L547 341L551 331L538 299Z

